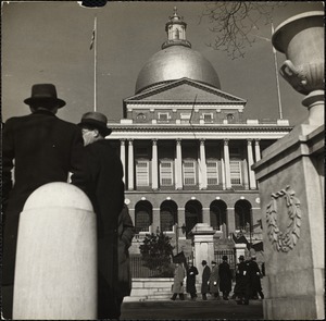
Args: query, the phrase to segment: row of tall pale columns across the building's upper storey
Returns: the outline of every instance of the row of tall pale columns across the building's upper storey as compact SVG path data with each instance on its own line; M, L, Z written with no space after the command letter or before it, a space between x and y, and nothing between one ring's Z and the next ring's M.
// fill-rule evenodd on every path
M159 159L158 159L158 139L152 138L152 189L159 188ZM126 141L128 148L128 164L126 164ZM175 188L183 189L183 151L181 151L181 139L176 139L176 159L175 159ZM253 141L254 141L254 152L253 152ZM231 188L231 175L230 175L230 157L229 157L229 139L224 139L223 146L224 157L221 158L222 162L222 186L223 189ZM199 166L200 166L200 177L199 177L199 188L205 189L208 187L208 175L206 175L206 157L205 157L205 139L200 139L199 145ZM247 139L247 160L243 173L243 185L248 186L250 189L256 189L256 182L254 172L251 170L251 165L255 161L261 159L260 139ZM134 182L134 139L121 139L121 160L126 173L127 169L127 182L125 182L128 190L135 189ZM125 175L126 176L126 175ZM124 180L125 180L124 176Z

